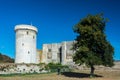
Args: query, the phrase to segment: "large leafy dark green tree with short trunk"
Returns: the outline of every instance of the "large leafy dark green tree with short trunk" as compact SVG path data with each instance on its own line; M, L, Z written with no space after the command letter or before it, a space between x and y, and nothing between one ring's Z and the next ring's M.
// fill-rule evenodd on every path
M106 22L107 19L102 14L88 15L73 27L77 33L73 60L79 65L84 63L89 66L91 77L94 75L95 65L114 65L114 48L105 35Z

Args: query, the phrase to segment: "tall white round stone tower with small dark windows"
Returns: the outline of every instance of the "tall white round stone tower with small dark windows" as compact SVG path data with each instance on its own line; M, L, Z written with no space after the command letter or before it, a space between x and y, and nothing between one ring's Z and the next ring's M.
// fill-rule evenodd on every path
M37 28L32 25L16 25L15 63L36 63Z

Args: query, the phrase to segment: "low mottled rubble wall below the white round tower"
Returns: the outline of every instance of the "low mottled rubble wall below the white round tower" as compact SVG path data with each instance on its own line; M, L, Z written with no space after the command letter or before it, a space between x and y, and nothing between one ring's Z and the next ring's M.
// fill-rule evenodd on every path
M14 73L44 73L44 65L37 64L14 64L5 63L0 64L0 74L14 74Z

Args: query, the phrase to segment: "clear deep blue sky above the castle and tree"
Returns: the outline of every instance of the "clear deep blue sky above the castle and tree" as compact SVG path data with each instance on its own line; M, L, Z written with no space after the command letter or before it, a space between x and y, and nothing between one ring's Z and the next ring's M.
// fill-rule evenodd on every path
M120 60L120 0L0 0L0 52L15 56L18 24L32 24L39 30L37 48L44 43L72 41L72 28L88 14L104 13L107 39Z

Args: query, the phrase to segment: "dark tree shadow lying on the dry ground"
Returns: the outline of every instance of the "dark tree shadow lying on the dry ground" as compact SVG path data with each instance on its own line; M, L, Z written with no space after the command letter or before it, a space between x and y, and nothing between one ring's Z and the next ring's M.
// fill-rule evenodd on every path
M87 73L77 73L77 72L63 72L62 75L66 77L76 77L76 78L89 78L90 74ZM95 77L103 77L101 75L94 75Z

